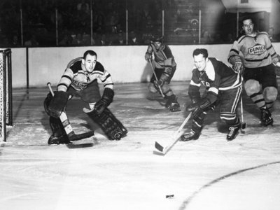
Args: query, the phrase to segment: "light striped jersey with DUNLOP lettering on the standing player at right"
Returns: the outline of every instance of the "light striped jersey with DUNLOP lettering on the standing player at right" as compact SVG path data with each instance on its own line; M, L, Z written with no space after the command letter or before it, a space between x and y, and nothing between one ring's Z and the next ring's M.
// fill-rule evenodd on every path
M272 59L277 56L267 32L259 32L255 36L242 35L232 44L228 55L228 62L234 64L234 57L244 57L246 68L258 68L272 64Z

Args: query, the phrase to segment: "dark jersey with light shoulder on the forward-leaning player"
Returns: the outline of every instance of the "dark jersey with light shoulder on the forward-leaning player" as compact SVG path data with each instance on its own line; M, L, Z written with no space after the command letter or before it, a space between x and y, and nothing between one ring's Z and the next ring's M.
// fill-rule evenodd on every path
M204 71L193 69L190 80L189 95L192 97L200 91L203 85L208 90L207 98L211 104L216 102L218 92L239 87L242 83L240 73L214 57L209 57Z

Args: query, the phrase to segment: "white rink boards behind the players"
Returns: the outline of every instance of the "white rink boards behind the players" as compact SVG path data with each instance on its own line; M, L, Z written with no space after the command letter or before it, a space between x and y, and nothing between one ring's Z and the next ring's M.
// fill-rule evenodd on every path
M280 43L273 43L280 53ZM209 57L227 62L231 44L170 45L177 63L173 80L190 80L193 69L193 50L207 48ZM144 59L147 46L101 46L69 48L29 48L29 87L43 87L59 82L68 62L82 57L85 50L97 52L97 60L108 70L115 83L139 83L151 78L153 71ZM26 49L12 49L13 87L26 87Z

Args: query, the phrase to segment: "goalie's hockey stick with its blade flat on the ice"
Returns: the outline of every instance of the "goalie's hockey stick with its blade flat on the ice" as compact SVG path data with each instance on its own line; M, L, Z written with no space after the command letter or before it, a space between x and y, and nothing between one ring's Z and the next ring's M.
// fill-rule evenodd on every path
M48 83L47 85L48 85L48 88L50 89L50 93L52 94L52 97L53 97L55 95L55 93L52 91L52 87L51 87L50 83ZM62 125L64 126L64 130L66 132L66 135L67 135L69 141L78 141L81 139L86 139L86 138L92 137L94 135L94 131L85 132L83 134L75 134L75 132L73 131L73 128L69 122L69 119L66 116L66 113L64 111L59 116L59 119L61 120Z

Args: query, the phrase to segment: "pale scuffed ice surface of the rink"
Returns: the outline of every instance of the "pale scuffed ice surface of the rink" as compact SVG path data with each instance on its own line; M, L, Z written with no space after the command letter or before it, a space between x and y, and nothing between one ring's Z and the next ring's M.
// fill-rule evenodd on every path
M216 110L200 139L179 141L162 156L153 152L155 141L170 141L188 116L189 83L172 83L182 108L176 113L146 85L116 85L109 108L129 130L120 141L107 140L71 99L76 133L97 132L72 146L47 145L47 87L13 90L14 125L0 147L0 209L279 209L279 98L274 127L258 126L260 113L244 95L245 134L226 141Z

